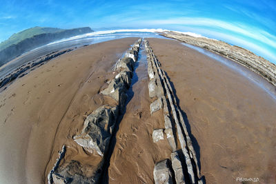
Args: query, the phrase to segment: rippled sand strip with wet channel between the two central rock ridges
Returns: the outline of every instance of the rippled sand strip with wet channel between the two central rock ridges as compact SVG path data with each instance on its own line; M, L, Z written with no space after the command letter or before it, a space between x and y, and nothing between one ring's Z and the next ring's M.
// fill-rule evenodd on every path
M150 115L150 96L148 95L148 61L144 43L139 54L139 64L132 79L128 93L130 101L126 113L119 123L115 138L108 183L154 183L155 163L170 158L172 152L166 136L154 143L152 132L164 128L163 112L159 110Z

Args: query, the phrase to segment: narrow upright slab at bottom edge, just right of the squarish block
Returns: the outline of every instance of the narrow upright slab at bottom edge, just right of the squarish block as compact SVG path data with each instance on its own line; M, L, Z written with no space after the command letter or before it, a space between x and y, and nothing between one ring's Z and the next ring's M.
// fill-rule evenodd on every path
M175 181L177 184L185 184L183 168L178 153L172 152L170 158L172 159L172 170L175 172Z

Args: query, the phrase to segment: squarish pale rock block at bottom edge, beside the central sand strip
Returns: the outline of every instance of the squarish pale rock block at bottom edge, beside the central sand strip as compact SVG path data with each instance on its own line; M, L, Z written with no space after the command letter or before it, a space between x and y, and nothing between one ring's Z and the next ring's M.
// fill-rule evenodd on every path
M155 165L153 170L155 184L168 183L172 184L172 172L170 169L170 160L166 159Z

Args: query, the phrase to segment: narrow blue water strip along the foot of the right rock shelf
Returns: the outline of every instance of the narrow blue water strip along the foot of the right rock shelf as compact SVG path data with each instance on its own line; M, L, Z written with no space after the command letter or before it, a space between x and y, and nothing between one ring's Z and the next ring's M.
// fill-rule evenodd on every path
M218 54L215 54L213 52L210 52L208 50L205 50L203 48L199 48L194 45L189 45L187 43L181 43L182 45L187 46L188 48L192 48L194 50L197 50L198 52L205 54L206 56L215 59L216 61L219 61L220 63L223 63L231 70L234 70L235 72L238 72L242 76L246 77L250 82L257 85L259 88L262 88L271 98L273 98L276 101L276 89L273 85L271 85L266 79L262 78L259 74L249 70L248 68L240 65L239 63L235 63L235 61L231 61L230 59L226 59L225 57L221 57Z

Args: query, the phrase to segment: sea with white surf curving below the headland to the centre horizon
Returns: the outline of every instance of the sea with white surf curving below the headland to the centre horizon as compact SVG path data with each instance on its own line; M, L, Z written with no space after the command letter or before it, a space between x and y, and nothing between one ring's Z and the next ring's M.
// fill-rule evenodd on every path
M165 38L155 32L92 32L88 34L81 34L76 37L54 41L52 43L48 43L47 45L43 45L39 48L35 48L34 50L30 50L24 54L21 54L21 56L13 59L0 68L0 79L2 79L4 76L6 76L19 66L23 65L24 63L28 63L29 61L37 59L38 57L49 54L51 52L68 48L79 48L83 45L90 45L101 43L103 41L110 41L127 37Z

